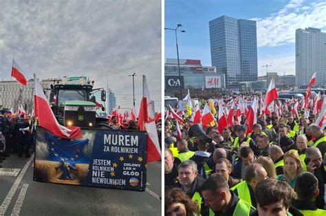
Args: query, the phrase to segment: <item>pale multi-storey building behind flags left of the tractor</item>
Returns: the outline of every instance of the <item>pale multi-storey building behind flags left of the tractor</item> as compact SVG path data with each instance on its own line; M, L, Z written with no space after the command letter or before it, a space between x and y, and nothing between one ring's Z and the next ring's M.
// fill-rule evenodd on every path
M41 80L42 88L50 88L54 80ZM50 91L45 91L47 99ZM28 80L26 86L17 81L0 81L0 108L12 109L17 112L19 104L26 112L32 113L34 108L34 80Z

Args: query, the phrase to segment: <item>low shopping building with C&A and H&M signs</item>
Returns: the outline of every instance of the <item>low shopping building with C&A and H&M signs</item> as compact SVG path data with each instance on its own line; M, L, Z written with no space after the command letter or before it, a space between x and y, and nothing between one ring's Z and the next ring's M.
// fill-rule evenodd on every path
M202 66L201 60L180 59L180 77L177 59L167 58L164 67L165 89L224 88L224 75L216 67Z

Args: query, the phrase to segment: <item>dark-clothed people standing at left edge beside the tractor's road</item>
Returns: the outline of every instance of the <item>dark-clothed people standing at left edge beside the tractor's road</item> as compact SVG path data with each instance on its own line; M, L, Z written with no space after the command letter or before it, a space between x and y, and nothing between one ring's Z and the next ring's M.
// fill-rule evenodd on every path
M30 157L37 122L34 117L12 114L9 110L0 110L0 113L0 167L2 167L3 160L11 154L18 154L20 158Z

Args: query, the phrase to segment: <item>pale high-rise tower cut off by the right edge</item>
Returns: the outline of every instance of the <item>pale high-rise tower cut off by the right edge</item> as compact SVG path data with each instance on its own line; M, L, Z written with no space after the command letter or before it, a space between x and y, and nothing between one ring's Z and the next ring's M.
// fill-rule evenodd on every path
M308 27L296 29L296 85L307 86L316 72L316 84L326 83L326 32Z

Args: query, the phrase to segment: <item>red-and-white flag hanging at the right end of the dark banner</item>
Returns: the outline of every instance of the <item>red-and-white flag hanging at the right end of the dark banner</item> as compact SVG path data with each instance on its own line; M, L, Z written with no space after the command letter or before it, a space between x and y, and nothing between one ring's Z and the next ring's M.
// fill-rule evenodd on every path
M161 160L161 149L154 120L154 111L146 77L142 76L142 101L138 116L138 127L147 132L147 163Z

